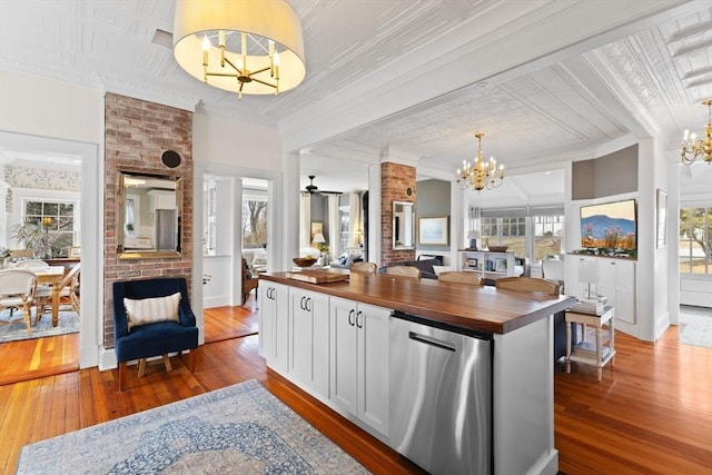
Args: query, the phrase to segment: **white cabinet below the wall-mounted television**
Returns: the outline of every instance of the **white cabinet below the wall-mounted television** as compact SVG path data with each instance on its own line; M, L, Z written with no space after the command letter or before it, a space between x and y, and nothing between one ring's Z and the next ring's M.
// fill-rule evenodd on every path
M619 329L631 331L637 323L635 313L635 260L600 256L570 256L566 294L578 299L591 294L607 298L606 305L615 308ZM589 285L591 281L591 285Z

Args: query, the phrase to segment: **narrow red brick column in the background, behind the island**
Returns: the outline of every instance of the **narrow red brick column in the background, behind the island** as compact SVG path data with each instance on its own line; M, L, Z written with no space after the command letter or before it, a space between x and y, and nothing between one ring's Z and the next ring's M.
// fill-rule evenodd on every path
M411 189L411 195L407 190ZM385 162L380 165L380 265L415 259L415 249L393 250L393 201L415 205L415 167ZM415 219L415 217L414 217Z

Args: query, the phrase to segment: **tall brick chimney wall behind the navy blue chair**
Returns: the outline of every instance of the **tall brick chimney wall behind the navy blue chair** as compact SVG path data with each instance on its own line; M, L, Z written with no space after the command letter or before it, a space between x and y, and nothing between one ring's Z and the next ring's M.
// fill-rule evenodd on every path
M103 344L113 347L112 284L149 277L186 277L192 294L192 112L107 93L106 189L103 197ZM166 150L181 157L177 168L161 161ZM181 256L171 258L119 259L117 253L117 202L119 171L182 178Z

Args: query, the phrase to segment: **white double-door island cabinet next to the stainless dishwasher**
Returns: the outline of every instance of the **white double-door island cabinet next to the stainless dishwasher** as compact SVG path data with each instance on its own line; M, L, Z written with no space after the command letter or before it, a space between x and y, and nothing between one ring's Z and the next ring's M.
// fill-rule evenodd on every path
M388 434L388 318L390 310L332 297L330 400Z

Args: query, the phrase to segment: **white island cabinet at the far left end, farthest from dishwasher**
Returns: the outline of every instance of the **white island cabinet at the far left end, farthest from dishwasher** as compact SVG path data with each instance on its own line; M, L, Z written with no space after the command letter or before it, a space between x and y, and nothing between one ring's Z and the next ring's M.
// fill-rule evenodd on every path
M286 375L289 349L289 287L261 280L257 289L259 290L259 355L267 360L267 366Z

